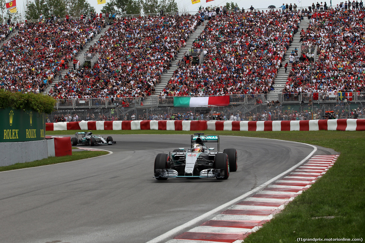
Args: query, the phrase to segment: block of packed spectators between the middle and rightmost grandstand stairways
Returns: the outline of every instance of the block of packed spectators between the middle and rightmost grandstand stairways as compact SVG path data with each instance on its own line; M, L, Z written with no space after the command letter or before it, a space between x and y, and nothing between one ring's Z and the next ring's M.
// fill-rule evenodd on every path
M251 35L250 32L245 36L241 36L236 32L234 26L243 26L245 18L250 15L255 16L255 18L252 23L247 23L248 26L250 24L257 26L263 19L269 20L270 28L273 27L273 31L269 34L272 37L263 34L261 41L268 38L280 39L280 44L276 46L275 52L270 50L271 47L266 49L266 47L261 48L261 46L247 44L249 41L248 36ZM169 84L166 85L160 96L268 93L281 65L281 59L292 41L292 34L280 33L288 31L285 28L293 28L294 31L297 28L297 23L300 22L299 16L295 16L294 21L288 19L286 23L285 19L287 18L289 18L289 15L284 15L279 11L257 12L254 14L244 12L231 16L216 16L214 21L208 23L206 29L193 44L194 49L204 48L208 50L204 63L199 65L190 65L189 63L185 67L180 66L174 72ZM278 26L278 23L275 23L274 19L281 19L284 28L275 27ZM221 23L227 20L229 23L226 26ZM256 32L261 33L261 30L257 28ZM240 36L240 38L235 38L236 36ZM219 41L221 38L232 44L222 45ZM246 47L237 50L239 46ZM235 55L232 53L235 53ZM250 58L245 58L246 55L250 55ZM260 102L262 101L260 100Z

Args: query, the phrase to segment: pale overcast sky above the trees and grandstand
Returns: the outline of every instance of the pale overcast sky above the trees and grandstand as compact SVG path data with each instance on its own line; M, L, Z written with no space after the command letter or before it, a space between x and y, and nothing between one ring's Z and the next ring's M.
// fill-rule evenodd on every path
M101 8L103 8L103 5L104 4L97 4L97 0L86 0L88 1L92 6L95 7L96 9L96 12L100 12ZM109 0L106 0L107 2ZM200 5L202 7L208 7L210 5L213 5L213 6L223 6L226 4L227 0L214 0L214 1L211 1L211 2L208 2L206 3L205 0L200 0L200 3L196 3L196 4L191 4L191 0L175 0L178 7L179 7L179 11L183 11L183 10L186 10L186 11L197 11L197 9L199 9ZM323 0L322 0L323 1ZM313 0L303 0L303 1L300 1L300 0L291 0L288 1L286 0L286 2L283 2L283 0L281 1L278 1L278 0L273 0L273 1L269 1L269 0L259 0L257 2L253 2L253 1L249 1L249 3L247 3L247 1L245 0L238 0L238 1L234 1L234 0L228 0L229 3L231 2L234 2L234 3L237 3L238 4L238 7L239 8L245 8L245 9L248 9L249 7L251 7L251 4L253 5L254 8L267 8L269 7L269 5L275 5L276 7L280 7L283 3L286 4L294 4L296 3L298 7L308 7L309 5L312 5L313 3ZM314 2L316 3L316 2ZM324 1L323 1L324 3ZM337 5L339 4L340 2L339 1L336 1L336 0L333 0L332 1L332 5ZM16 0L16 7L20 10L23 9L23 5L24 5L24 0ZM330 5L330 0L327 1L327 5L329 6Z

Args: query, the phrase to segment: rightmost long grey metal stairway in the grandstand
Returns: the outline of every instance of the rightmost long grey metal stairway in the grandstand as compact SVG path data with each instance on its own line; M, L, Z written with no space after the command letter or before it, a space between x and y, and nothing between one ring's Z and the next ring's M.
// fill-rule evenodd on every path
M300 32L302 29L306 30L307 27L310 24L310 19L308 19L306 16L304 17L303 20L301 20L300 25L298 27L298 32L293 35L293 42L291 43L291 46L289 47L289 49L287 50L287 54L285 56L285 58L283 59L283 66L280 67L280 69L277 72L276 78L275 78L275 84L274 86L274 90L270 91L270 93L268 93L267 95L267 101L277 101L280 100L279 95L281 95L282 90L285 87L285 84L287 82L287 78L288 78L288 74L289 74L289 70L291 69L291 65L288 65L288 71L287 73L285 73L285 68L284 65L285 63L289 62L289 55L290 53L295 50L295 48L297 48L299 50L300 46L301 46L301 41L300 41Z

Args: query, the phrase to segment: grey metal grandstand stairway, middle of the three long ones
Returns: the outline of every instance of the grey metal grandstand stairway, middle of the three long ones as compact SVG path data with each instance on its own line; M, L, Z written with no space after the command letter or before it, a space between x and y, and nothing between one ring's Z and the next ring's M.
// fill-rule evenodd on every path
M160 95L160 92L168 84L170 78L172 77L172 75L174 74L175 70L177 69L176 63L183 58L183 55L184 55L185 51L188 51L192 47L194 41L201 34L201 32L203 32L204 28L205 28L205 25L204 24L201 24L200 26L198 26L196 28L196 30L193 32L193 34L191 34L189 36L189 39L186 42L185 47L183 47L183 48L180 49L180 53L175 58L175 60L172 61L172 63L171 63L172 66L170 67L170 69L167 70L166 73L162 74L160 83L155 85L155 94L147 97L145 99L145 101L143 101L143 106L151 106L151 105L155 106L155 105L157 105L157 104L154 104L157 101L157 98L156 97L158 95Z

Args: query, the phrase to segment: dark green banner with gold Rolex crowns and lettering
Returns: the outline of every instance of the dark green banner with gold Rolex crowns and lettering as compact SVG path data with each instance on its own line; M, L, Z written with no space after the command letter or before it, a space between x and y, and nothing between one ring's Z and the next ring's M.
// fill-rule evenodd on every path
M0 109L0 142L45 139L45 114L21 109Z

